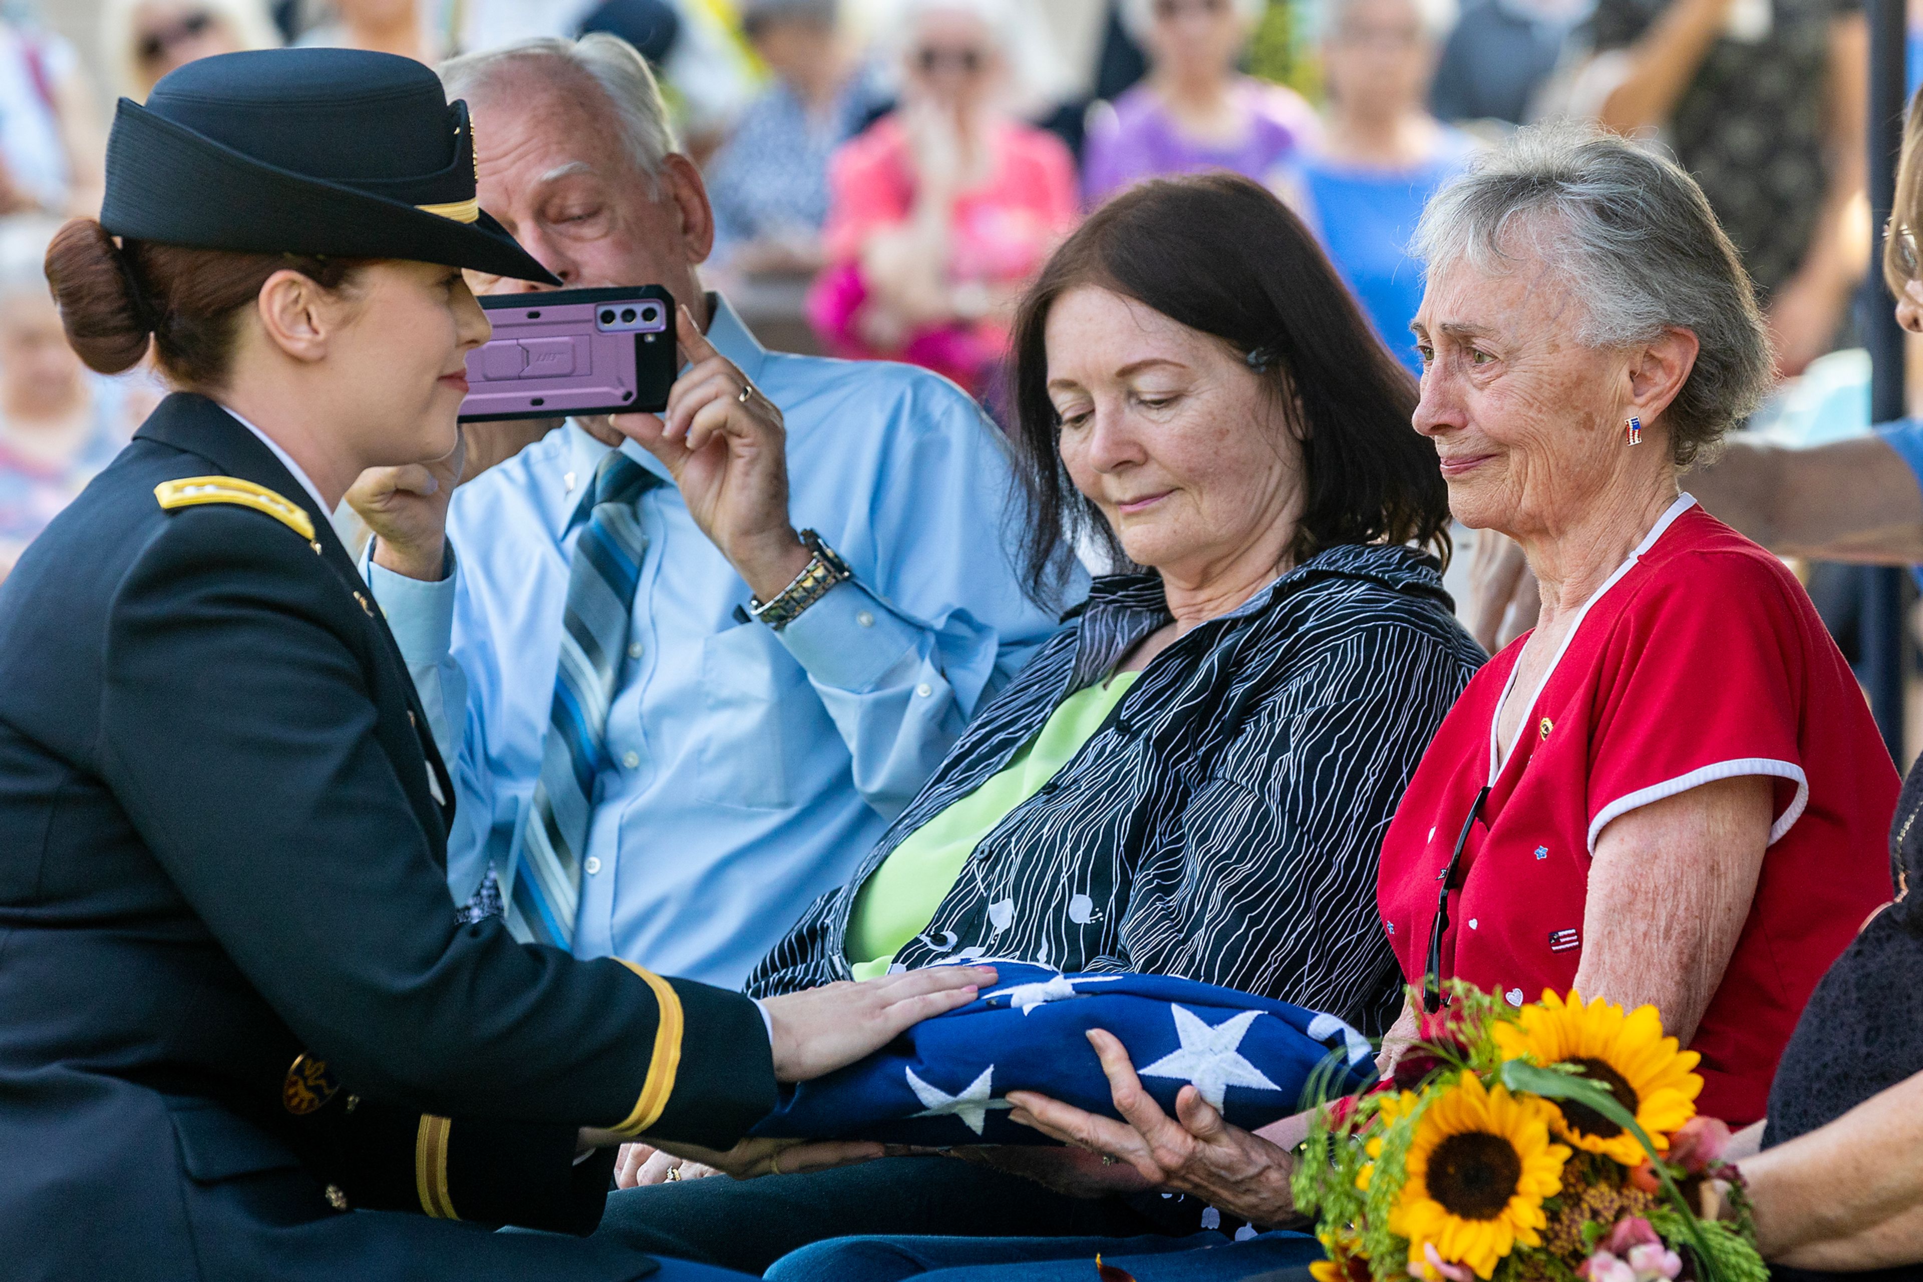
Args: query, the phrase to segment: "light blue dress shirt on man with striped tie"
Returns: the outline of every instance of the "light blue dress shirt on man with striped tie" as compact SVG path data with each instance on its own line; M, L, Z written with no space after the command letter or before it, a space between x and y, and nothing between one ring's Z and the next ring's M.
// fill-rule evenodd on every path
M748 584L681 492L642 496L648 550L575 955L738 988L846 880L973 711L1056 630L1056 611L1021 592L1008 448L965 392L910 365L767 352L710 300L708 340L787 419L794 525L819 530L856 577L781 632L740 623ZM667 475L633 442L623 450ZM460 903L488 861L510 867L540 773L571 517L606 454L567 423L456 490L454 573L440 582L363 567L454 773Z

